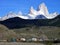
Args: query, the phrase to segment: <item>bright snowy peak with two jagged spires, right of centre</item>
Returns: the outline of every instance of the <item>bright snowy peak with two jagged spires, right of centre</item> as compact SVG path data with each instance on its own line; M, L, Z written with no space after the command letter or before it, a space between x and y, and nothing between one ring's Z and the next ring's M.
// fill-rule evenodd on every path
M32 17L32 19L36 19L35 17L37 17L38 15L45 16L47 19L52 19L52 18L55 18L58 14L57 13L49 14L47 6L45 5L45 3L41 3L39 5L38 11L34 10L34 8L32 7L30 9L30 13L28 15L30 17Z

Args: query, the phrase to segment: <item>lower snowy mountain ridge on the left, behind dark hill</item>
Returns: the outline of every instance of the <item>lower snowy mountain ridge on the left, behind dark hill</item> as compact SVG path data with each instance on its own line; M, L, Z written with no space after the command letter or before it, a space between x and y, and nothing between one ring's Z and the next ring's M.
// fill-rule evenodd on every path
M19 17L19 18L22 18L22 19L29 19L27 16L23 16L22 12L18 12L18 14L15 14L13 12L9 12L7 15L2 17L0 19L0 21L6 20L6 19L9 19L9 18L14 18L14 17Z

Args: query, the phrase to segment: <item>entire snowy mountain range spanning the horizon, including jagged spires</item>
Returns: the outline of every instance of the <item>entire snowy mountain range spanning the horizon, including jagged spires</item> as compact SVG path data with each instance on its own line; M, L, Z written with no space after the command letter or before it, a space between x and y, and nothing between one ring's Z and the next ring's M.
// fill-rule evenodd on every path
M59 14L57 12L49 14L47 6L45 3L41 3L39 5L38 10L35 10L32 6L30 8L30 12L27 15L23 15L22 12L18 12L15 14L13 12L9 12L4 17L0 17L0 21L4 21L9 18L19 17L22 19L53 19L57 17Z

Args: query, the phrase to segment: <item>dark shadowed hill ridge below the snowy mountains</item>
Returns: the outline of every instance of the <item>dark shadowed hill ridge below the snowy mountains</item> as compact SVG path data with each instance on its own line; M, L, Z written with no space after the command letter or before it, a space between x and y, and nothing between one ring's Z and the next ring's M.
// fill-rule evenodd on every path
M21 19L19 17L10 18L0 21L0 24L5 25L9 29L23 28L28 26L57 26L60 27L60 15L54 19Z

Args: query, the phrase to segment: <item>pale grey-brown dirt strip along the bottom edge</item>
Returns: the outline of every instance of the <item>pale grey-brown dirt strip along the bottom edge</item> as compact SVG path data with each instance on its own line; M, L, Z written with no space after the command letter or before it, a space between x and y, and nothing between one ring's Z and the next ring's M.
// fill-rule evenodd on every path
M0 42L0 45L46 45L42 43L22 43L22 42ZM53 44L53 45L60 45L59 44Z

